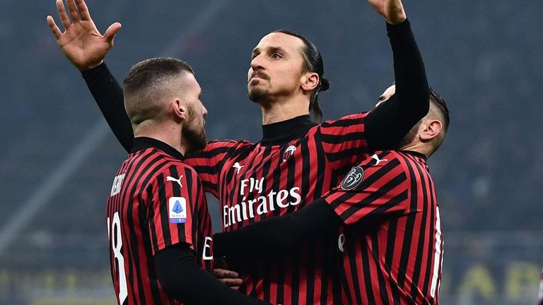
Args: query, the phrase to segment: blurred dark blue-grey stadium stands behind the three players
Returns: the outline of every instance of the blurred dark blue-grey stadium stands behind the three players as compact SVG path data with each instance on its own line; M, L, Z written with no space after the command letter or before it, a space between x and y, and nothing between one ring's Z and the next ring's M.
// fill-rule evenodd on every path
M452 124L430 160L445 235L442 304L535 304L543 265L543 1L404 0ZM104 207L125 152L49 32L54 1L1 1L0 304L114 304ZM319 47L325 119L370 109L392 83L385 22L362 0L88 0L107 56L192 64L209 139L261 135L250 52L271 30ZM216 213L216 201L210 200ZM220 227L215 217L215 227Z

